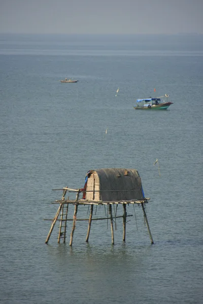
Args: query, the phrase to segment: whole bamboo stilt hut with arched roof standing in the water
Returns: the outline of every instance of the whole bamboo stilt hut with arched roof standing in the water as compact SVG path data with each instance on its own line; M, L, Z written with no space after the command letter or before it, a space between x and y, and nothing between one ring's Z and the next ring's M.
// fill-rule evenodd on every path
M151 243L153 244L153 239L149 229L147 215L145 212L145 205L148 203L148 200L150 199L145 198L144 196L141 178L136 169L106 168L106 169L90 170L86 174L85 185L83 188L72 189L69 187L64 187L62 189L54 189L54 190L62 190L63 195L61 200L55 202L59 204L59 208L56 212L55 217L53 219L45 219L45 220L52 220L51 229L49 231L45 243L48 243L53 227L57 220L60 221L58 243L60 243L61 238L63 239L63 243L65 243L67 221L69 220L73 221L71 239L70 239L70 245L72 246L76 221L87 220L89 222L87 237L86 237L86 242L88 242L92 220L97 220L97 219L108 220L110 218L111 231L112 231L112 244L114 244L113 218L116 220L116 218L118 217L123 218L123 241L125 241L126 217L132 216L132 215L127 215L126 205L140 204L143 209L144 219L145 219L145 223L147 224L150 240ZM67 192L68 193L75 192L76 200L69 200L69 198L65 200L65 195ZM82 198L80 199L81 193L82 193ZM72 219L67 218L69 204L75 205L75 211ZM114 214L114 216L112 215L112 205L114 204L116 204L117 206L118 204L123 205L122 216L117 216L116 213ZM79 205L91 206L89 218L87 219L77 218ZM107 205L108 217L92 218L94 205ZM59 215L60 218L58 219ZM62 227L63 227L63 231L62 231Z

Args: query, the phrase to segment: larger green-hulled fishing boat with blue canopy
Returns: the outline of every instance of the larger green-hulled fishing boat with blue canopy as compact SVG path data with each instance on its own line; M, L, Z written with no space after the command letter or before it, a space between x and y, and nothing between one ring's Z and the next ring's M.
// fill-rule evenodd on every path
M136 105L134 105L134 109L148 109L148 110L166 110L173 102L168 101L168 94L157 98L144 98L144 99L137 99ZM162 99L161 99L162 98ZM166 98L166 101L163 99Z

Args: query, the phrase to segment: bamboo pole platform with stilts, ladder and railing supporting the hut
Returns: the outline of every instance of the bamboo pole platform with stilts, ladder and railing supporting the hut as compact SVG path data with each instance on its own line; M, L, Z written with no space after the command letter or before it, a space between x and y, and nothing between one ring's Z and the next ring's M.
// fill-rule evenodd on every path
M91 229L91 222L92 220L110 220L111 223L111 235L112 235L112 244L114 245L114 226L113 226L113 221L117 218L123 218L123 242L125 242L125 235L126 235L126 218L133 216L132 214L127 215L126 212L126 206L128 206L129 204L138 204L142 206L143 209L143 214L144 214L144 221L147 225L147 229L148 229L148 233L149 233L149 237L151 240L151 244L153 244L153 239L152 239L152 235L150 232L150 228L149 228L149 223L147 220L147 215L146 215L146 211L145 211L145 206L148 203L148 201L150 200L150 198L144 198L143 200L122 200L122 201L95 201L95 200L91 200L91 201L87 201L87 200L81 200L79 199L80 193L84 193L84 192L102 192L102 191L84 191L84 189L73 189L73 188L68 188L68 187L64 187L62 189L53 189L53 191L63 191L62 194L62 198L61 200L56 200L55 202L53 202L52 204L59 204L58 210L55 214L55 217L53 219L49 219L49 218L45 218L44 220L50 220L52 221L51 227L50 227L50 231L49 234L47 236L47 239L45 241L46 244L48 244L49 239L51 237L52 231L54 229L55 223L57 221L59 221L59 232L58 232L58 243L60 243L60 240L63 240L63 243L65 243L65 239L66 239L66 227L67 227L67 221L73 221L73 225L72 225L72 231L71 231L71 235L70 235L70 243L69 245L72 246L73 244L73 236L74 236L74 231L76 228L76 221L88 221L88 229L87 229L87 236L86 236L86 242L88 242L89 240L89 235L90 235L90 229ZM124 192L125 190L123 190L122 192ZM104 191L105 192L105 191ZM107 191L106 191L107 192ZM118 192L118 191L111 191L111 192ZM65 195L66 193L76 193L76 200L70 200L69 198L67 200L65 200ZM69 210L69 205L74 205L75 209L74 209L74 215L73 218L67 218L67 214L68 214L68 210ZM78 207L82 206L82 205L89 205L90 206L90 215L89 218L77 218L77 212L78 212ZM100 217L100 218L92 218L93 216L93 207L94 205L98 206L98 205L107 205L108 207L108 216L106 217ZM113 216L112 214L112 205L113 206L118 206L118 205L122 205L123 206L123 215L121 216L117 216L117 214L115 213L115 215ZM117 209L116 209L117 210ZM60 218L58 218L60 217ZM115 223L116 225L116 223Z

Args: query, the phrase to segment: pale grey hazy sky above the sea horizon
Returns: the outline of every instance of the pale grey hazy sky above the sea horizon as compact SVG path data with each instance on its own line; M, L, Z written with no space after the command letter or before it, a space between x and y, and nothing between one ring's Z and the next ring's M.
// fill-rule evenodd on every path
M2 33L203 33L203 0L0 0Z

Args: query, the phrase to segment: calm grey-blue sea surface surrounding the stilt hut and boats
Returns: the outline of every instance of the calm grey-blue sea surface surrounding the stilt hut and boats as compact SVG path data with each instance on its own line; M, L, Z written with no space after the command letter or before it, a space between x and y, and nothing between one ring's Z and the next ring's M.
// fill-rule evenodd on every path
M203 36L1 34L0 71L0 302L202 303ZM166 93L166 111L133 109ZM125 244L117 219L114 246L107 221L46 245L52 189L117 167L141 175L154 245L137 206Z

